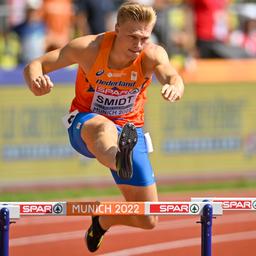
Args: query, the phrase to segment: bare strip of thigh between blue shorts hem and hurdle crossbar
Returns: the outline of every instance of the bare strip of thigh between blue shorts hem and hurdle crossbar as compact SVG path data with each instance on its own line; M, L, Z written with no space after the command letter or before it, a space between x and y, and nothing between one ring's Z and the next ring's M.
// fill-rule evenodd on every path
M156 183L149 186L132 186L117 184L126 201L158 201Z

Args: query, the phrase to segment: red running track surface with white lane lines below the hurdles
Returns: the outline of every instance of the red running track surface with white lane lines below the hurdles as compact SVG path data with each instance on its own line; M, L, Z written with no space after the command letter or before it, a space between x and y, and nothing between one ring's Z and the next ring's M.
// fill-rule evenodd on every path
M160 199L166 200L166 196ZM169 200L178 201L181 197ZM198 220L191 216L163 216L151 231L113 227L97 253L90 254L83 240L90 218L23 217L11 226L10 256L199 256ZM255 249L255 211L226 211L214 219L212 256L254 256Z

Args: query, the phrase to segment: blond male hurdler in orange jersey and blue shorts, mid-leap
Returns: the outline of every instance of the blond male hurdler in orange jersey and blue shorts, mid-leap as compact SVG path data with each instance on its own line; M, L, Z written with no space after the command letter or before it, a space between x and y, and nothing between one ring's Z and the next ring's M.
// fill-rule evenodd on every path
M67 127L72 146L111 169L127 201L157 201L154 174L143 134L146 90L153 73L165 100L175 102L184 91L181 77L166 51L150 42L156 22L152 7L124 3L115 31L72 40L35 59L24 70L36 96L49 93L47 73L77 63L76 95ZM114 225L152 229L156 216L94 216L86 233L89 251L96 251Z

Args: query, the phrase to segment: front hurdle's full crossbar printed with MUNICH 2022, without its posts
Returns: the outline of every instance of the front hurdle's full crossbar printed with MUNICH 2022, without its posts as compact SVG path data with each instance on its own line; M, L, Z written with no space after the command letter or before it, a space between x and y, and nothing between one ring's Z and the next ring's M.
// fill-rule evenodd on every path
M20 216L91 215L201 215L207 202L5 202L19 207ZM213 215L222 215L219 202L211 202ZM16 208L15 208L16 209ZM19 217L18 214L10 217Z

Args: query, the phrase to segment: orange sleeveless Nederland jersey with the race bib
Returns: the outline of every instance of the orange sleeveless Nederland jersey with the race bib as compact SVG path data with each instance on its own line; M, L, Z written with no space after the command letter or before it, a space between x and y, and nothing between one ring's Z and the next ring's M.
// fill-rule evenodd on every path
M121 70L109 69L108 59L115 32L106 32L97 58L85 74L78 67L76 94L70 111L101 114L117 125L133 122L135 126L144 124L144 104L146 88L151 78L146 79L141 69L141 53L133 63Z

